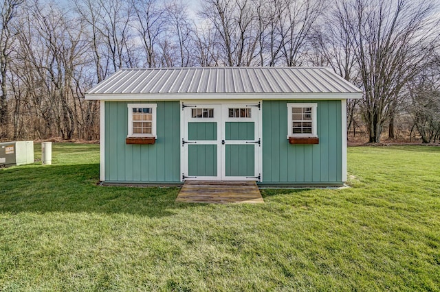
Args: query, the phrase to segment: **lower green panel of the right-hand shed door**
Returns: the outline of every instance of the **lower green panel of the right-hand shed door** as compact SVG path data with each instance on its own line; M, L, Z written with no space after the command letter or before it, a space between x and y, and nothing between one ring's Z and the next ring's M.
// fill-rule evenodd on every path
M225 175L255 175L255 145L225 145Z

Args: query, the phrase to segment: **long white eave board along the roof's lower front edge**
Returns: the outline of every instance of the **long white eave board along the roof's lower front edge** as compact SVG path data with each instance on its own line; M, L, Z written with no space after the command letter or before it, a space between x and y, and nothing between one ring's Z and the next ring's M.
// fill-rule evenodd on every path
M186 99L360 99L358 93L96 93L86 94L87 100L186 100Z

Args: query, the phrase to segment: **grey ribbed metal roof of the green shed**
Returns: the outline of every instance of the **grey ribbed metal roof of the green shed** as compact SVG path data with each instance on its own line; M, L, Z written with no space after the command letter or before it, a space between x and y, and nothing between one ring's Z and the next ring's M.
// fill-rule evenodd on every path
M355 93L353 97L358 97L361 92L324 67L199 67L120 69L87 91L86 98L211 93Z

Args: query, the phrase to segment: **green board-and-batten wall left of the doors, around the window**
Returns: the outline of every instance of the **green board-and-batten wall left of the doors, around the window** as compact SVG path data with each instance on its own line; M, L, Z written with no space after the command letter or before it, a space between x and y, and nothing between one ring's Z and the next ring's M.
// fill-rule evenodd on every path
M127 145L127 104L157 104L157 140ZM180 181L179 101L105 102L105 180L107 182Z

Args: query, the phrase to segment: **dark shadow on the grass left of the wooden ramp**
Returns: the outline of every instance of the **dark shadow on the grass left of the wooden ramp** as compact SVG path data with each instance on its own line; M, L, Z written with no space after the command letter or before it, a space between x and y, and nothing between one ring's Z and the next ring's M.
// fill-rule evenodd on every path
M179 188L97 186L98 164L28 165L0 171L0 212L97 212L173 215Z

